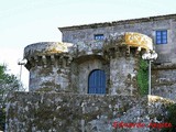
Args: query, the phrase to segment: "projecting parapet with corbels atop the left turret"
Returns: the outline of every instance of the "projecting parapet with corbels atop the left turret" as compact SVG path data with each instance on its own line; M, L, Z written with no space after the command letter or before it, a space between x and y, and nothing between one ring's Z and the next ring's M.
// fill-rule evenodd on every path
M59 42L41 42L24 48L24 58L28 59L25 67L46 65L69 65L72 56L68 55L68 44Z

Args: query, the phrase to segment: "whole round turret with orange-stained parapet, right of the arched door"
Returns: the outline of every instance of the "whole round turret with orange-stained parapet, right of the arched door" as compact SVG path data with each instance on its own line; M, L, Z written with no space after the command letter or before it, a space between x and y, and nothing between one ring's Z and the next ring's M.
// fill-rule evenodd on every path
M110 95L138 95L140 55L152 50L152 40L140 33L127 32L106 40L103 56L110 64Z

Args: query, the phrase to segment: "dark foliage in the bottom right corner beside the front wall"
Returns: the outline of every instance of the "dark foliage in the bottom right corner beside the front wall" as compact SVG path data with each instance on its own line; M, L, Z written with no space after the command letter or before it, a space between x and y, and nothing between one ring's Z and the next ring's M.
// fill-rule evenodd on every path
M170 128L163 128L162 132L176 132L176 103L170 105L167 109L167 117L165 118L164 122L172 123Z

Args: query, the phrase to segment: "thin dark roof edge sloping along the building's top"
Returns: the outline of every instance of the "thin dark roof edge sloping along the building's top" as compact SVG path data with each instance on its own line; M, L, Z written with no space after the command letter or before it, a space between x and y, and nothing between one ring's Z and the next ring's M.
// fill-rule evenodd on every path
M103 23L63 26L63 28L58 28L58 30L61 32L63 32L63 31L72 31L72 30L96 29L96 28L102 28L102 26L113 26L113 25L118 25L118 24L157 21L157 20L163 20L163 19L176 19L176 13L175 14L166 14L166 15L140 18L140 19L129 19L129 20L120 20L120 21L112 21L112 22L103 22Z

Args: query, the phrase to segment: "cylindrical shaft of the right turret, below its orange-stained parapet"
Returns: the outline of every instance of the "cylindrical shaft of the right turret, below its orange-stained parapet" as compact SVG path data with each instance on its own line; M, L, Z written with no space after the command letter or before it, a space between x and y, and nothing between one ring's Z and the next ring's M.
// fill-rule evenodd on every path
M136 59L136 61L135 61ZM110 95L138 95L138 58L116 57L110 61Z

